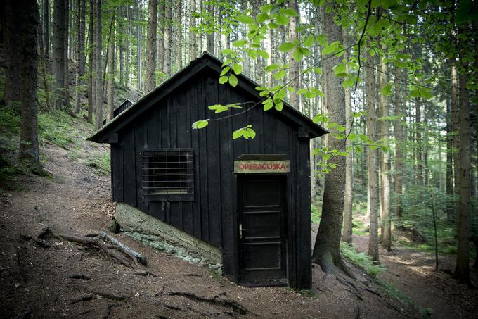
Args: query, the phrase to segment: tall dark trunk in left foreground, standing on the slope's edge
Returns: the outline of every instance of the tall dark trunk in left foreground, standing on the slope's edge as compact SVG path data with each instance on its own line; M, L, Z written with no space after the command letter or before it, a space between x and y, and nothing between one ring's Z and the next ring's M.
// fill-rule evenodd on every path
M37 132L37 44L39 8L36 0L7 1L20 13L15 18L20 27L20 158L26 159L34 173L40 169ZM14 12L15 12L14 11ZM20 20L20 21L18 21Z

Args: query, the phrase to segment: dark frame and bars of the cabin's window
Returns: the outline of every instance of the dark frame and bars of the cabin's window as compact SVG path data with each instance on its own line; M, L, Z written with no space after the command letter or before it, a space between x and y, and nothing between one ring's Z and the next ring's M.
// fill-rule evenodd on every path
M194 160L194 151L193 149L190 148L168 148L168 149L141 149L141 196L143 198L143 201L194 201L194 193L195 193L195 160ZM186 161L164 161L164 164L162 163L162 160L160 161L157 159L157 161L154 161L154 158L173 158L173 157L181 157L184 156L186 157ZM179 166L181 166L183 163L185 164L185 167L173 167L169 168L169 170L184 170L186 173L179 173L178 176L188 176L188 180L172 180L172 181L167 181L167 180L155 180L155 177L161 176L157 175L157 173L149 174L148 170L153 170L154 172L157 172L157 170L166 170L164 174L168 174L167 167L162 167L162 168L151 168L150 165L155 165L155 164L160 164L160 165L168 165L171 163L179 163ZM174 173L177 173L176 171ZM176 175L176 174L174 174ZM167 176L167 175L162 175L162 176ZM167 177L166 177L167 178ZM153 179L153 180L151 180ZM172 183L180 183L180 186L177 187L178 190L181 189L186 189L185 194L167 194L169 192L168 187L156 187L151 185L151 183L167 183L167 182L172 182ZM163 189L166 194L151 194L148 192L147 189Z

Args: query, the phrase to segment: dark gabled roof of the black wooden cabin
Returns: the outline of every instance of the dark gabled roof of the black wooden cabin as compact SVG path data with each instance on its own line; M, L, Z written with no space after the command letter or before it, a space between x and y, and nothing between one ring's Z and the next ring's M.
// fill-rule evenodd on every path
M88 140L98 143L108 142L108 137L110 135L118 132L128 123L131 123L131 121L133 121L143 112L147 111L151 106L155 105L157 101L160 101L160 99L162 99L164 96L167 96L167 94L171 93L174 89L176 89L176 87L179 87L205 68L216 71L219 80L221 65L222 61L220 61L219 58L204 52L202 56L191 61L185 68L176 72L174 75L172 75L172 77L169 77L169 79L162 82L161 85L157 86L151 92L136 101L136 103L124 109L124 111L115 116L115 118L113 118L108 124L103 126L100 130L94 132L91 137L88 137ZM259 96L259 92L255 89L259 86L256 82L243 74L238 75L238 80L239 82L237 87L245 89L245 91L249 92L250 94L257 96L258 101L263 99L261 96ZM290 106L290 104L287 102L284 102L284 108L282 111L279 112L275 109L271 109L268 112L276 114L282 113L286 118L292 120L294 123L297 123L299 127L303 127L305 131L308 132L307 136L305 137L314 138L328 133L328 130L325 130L325 128L323 128L321 125L312 122L309 117L295 110L295 108L292 108L292 106Z

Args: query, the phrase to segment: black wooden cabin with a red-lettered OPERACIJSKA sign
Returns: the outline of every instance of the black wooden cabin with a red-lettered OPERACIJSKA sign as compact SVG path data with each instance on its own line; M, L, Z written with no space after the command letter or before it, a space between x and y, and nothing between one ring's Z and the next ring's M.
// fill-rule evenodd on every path
M233 282L309 289L309 139L327 131L287 103L253 106L257 83L219 84L221 64L202 54L89 137L111 145L112 200L217 246ZM207 108L235 102L250 103ZM232 139L246 125L257 136Z

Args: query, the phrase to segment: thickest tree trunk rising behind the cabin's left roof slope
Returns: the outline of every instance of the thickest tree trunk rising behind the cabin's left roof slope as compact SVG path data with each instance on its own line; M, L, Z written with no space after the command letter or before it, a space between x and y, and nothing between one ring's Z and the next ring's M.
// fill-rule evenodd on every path
M157 0L150 0L148 5L148 32L146 35L146 94L156 87L156 35Z

